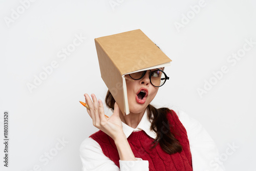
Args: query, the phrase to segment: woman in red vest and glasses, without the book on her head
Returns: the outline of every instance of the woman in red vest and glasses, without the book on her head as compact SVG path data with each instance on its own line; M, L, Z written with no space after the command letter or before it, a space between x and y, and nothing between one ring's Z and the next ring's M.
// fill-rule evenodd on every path
M205 130L198 129L198 122L189 120L182 112L178 112L178 117L173 110L156 109L150 104L159 87L168 79L163 68L125 77L129 115L121 113L109 91L105 102L110 109L114 109L109 118L104 116L101 100L97 100L94 94L91 95L92 100L84 94L90 106L87 112L100 131L80 146L83 170L188 171L210 168L209 159L218 156L218 151ZM194 134L194 137L189 137L179 118L183 119L183 124L190 129L189 134ZM204 144L202 149L201 144ZM205 149L208 151L204 152Z

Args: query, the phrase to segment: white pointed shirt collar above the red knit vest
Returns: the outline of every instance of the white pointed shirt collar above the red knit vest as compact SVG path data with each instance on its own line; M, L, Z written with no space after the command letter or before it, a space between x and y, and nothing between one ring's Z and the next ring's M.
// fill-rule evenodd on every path
M112 114L113 114L113 110L110 109L107 115L111 116ZM133 132L141 131L141 130L143 130L148 136L150 136L153 139L155 139L157 137L157 134L154 131L150 130L151 121L148 120L148 118L147 118L147 110L145 110L140 123L138 124L138 126L135 129L123 122L122 122L122 126L123 126L123 132L124 132L126 138L128 138Z

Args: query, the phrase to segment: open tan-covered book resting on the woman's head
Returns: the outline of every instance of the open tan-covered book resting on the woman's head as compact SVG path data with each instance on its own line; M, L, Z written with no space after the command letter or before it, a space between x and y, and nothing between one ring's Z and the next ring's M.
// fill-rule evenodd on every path
M169 59L141 30L95 38L101 78L123 114L129 114L125 75L166 67Z

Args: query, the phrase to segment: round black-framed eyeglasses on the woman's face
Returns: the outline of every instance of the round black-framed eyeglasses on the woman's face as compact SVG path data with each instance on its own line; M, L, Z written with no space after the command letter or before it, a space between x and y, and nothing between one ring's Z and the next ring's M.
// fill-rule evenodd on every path
M150 71L150 82L153 86L155 87L161 87L163 86L163 84L165 83L166 79L169 79L169 77L167 77L167 75L160 69L154 70L154 71ZM136 73L132 73L129 74L131 78L138 80L144 77L144 75L146 74L146 71L140 71L140 72L136 72Z

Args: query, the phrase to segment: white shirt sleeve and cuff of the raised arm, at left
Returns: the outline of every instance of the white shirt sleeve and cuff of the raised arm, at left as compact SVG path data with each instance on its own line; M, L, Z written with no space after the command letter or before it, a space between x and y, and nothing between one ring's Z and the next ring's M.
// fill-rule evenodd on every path
M119 167L110 158L106 157L102 149L92 138L85 139L80 145L82 171L148 171L148 161L136 158L136 161L119 160Z

